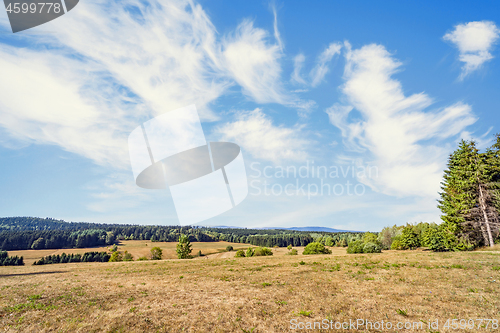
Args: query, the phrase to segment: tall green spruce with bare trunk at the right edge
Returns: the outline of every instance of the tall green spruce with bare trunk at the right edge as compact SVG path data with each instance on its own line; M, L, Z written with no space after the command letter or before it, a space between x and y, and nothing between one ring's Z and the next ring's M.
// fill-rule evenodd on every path
M498 235L498 137L496 146L481 154L475 142L462 140L450 155L438 200L441 236L449 249L493 246Z

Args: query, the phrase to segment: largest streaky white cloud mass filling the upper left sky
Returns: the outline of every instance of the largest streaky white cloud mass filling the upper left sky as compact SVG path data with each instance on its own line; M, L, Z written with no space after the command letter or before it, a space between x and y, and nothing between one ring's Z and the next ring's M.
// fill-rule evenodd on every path
M23 35L31 49L0 44L3 135L128 168L133 128L189 104L216 120L210 104L235 83L256 102L307 113L314 104L281 86L275 25L278 44L250 21L220 40L191 1L81 2L46 24L57 34Z

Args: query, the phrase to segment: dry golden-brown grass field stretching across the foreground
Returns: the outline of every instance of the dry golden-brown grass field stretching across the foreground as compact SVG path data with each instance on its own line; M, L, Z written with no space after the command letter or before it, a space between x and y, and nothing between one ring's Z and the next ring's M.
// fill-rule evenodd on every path
M216 253L226 245L193 243L193 253ZM150 247L132 241L120 250L137 258ZM173 257L175 243L162 248ZM291 332L300 331L291 321L313 325L324 319L413 326L302 331L500 332L491 324L443 327L447 319L500 319L498 248L358 255L332 250L331 255L288 256L286 249L273 249L272 257L234 258L231 252L193 260L0 267L0 332ZM45 251L22 252L34 260ZM439 328L429 329L435 320Z

